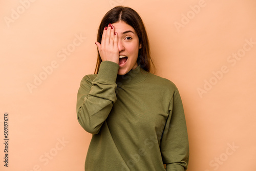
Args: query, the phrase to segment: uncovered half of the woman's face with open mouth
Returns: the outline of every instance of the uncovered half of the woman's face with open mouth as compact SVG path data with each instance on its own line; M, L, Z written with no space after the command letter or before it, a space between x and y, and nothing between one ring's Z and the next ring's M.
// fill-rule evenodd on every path
M141 45L139 45L139 37L132 26L122 21L113 23L112 25L118 34L118 75L124 75L138 66L137 58Z

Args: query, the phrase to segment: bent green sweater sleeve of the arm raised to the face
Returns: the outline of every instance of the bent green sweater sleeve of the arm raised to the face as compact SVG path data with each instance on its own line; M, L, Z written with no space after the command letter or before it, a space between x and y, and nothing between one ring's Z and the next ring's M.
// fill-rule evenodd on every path
M98 134L116 101L116 77L119 65L102 61L95 79L87 75L80 83L77 94L77 120L84 130Z

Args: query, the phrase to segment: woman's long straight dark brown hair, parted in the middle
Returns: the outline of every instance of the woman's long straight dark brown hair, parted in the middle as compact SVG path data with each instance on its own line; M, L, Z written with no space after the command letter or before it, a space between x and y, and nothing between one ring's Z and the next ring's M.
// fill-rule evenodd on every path
M139 44L141 44L141 49L139 49L137 63L147 72L151 72L152 68L154 68L154 63L151 59L150 55L150 42L147 38L147 33L143 21L139 14L129 7L117 6L107 12L101 20L97 41L101 42L101 37L103 34L104 27L109 24L117 23L119 21L125 22L127 25L130 25L136 31L139 37ZM99 51L97 64L94 73L98 74L100 63L102 62Z

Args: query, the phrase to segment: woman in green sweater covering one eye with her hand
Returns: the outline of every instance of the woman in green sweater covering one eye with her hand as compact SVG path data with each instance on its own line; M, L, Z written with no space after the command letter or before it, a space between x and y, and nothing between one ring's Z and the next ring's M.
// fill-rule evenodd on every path
M175 84L150 73L145 27L133 9L118 6L98 30L95 74L77 96L77 119L93 134L85 170L186 170L188 137Z

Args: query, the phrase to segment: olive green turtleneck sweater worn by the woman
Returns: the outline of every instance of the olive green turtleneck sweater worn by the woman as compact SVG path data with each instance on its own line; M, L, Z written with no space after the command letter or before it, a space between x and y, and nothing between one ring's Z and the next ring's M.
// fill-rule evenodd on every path
M85 170L186 170L187 129L175 84L140 66L123 76L118 69L103 61L80 83L77 119L93 134Z

